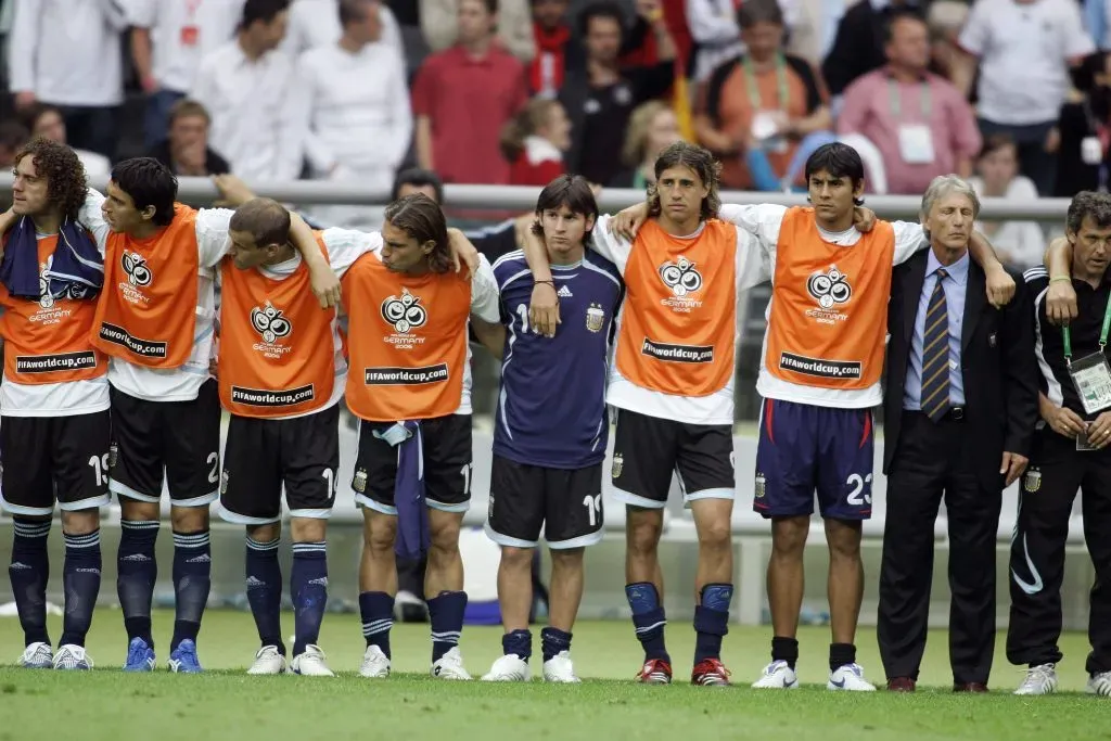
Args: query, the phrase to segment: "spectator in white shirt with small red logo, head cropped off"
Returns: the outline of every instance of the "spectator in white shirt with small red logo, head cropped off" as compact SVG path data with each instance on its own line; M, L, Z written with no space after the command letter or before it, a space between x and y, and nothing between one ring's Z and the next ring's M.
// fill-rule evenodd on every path
M209 52L231 41L244 0L130 0L131 58L143 92L143 142L166 139L170 107L193 84Z

